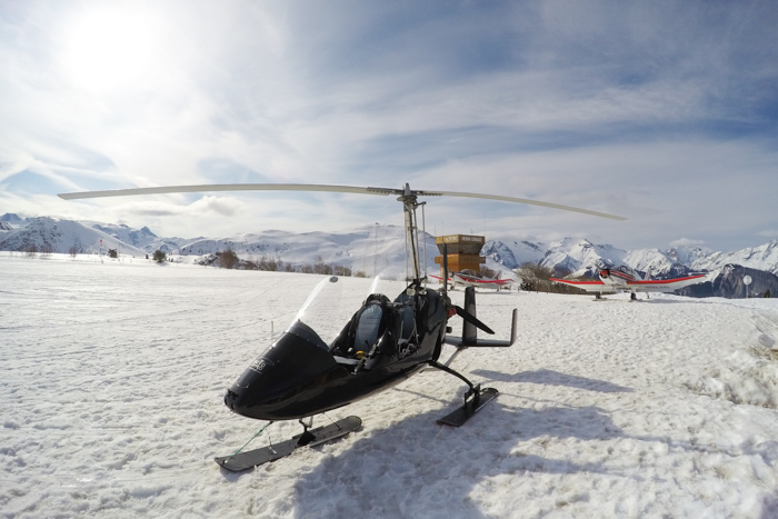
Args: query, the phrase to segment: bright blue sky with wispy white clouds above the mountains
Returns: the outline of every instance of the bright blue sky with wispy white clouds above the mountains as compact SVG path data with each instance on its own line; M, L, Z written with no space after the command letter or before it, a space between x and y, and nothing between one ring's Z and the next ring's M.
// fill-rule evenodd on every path
M207 183L470 191L430 233L712 250L778 238L770 1L0 0L0 214L159 236L402 223L391 198L60 192Z

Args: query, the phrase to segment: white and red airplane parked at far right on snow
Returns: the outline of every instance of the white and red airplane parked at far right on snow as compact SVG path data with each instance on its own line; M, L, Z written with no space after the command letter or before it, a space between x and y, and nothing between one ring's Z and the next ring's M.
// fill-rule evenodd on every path
M614 268L602 261L598 261L599 280L591 281L573 281L570 279L555 279L551 281L557 283L569 285L587 292L595 292L595 298L600 299L602 293L631 292L630 298L637 299L635 292L672 292L679 288L688 287L707 281L708 275L699 273L686 276L675 279L650 279L646 276L644 279L634 269L622 265Z

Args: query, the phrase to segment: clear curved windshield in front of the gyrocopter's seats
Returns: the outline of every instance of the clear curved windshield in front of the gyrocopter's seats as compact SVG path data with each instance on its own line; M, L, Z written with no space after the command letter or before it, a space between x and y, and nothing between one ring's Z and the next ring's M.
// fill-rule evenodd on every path
M405 289L405 281L396 281L381 275L373 279L330 276L313 288L287 331L300 321L330 345L368 296L382 293L393 300Z

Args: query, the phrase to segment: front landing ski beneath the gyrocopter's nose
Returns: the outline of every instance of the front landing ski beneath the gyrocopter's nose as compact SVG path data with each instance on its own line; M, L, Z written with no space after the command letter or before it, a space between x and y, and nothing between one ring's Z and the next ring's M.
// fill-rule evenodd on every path
M285 456L289 456L298 447L315 447L326 441L340 438L341 436L346 436L349 432L359 429L361 425L361 418L348 417L329 426L311 429L307 433L297 435L289 440L281 441L280 443L262 447L261 449L248 450L246 452L238 452L232 456L213 458L213 461L231 472L240 472L241 470L247 470L269 461L276 461Z

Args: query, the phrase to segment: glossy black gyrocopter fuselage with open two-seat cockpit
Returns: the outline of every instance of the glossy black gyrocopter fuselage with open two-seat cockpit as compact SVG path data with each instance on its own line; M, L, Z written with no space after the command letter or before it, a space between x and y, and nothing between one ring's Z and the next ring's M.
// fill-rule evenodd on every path
M225 403L246 417L289 420L360 400L435 365L455 312L413 282L393 301L369 296L329 345L303 317L246 368Z

